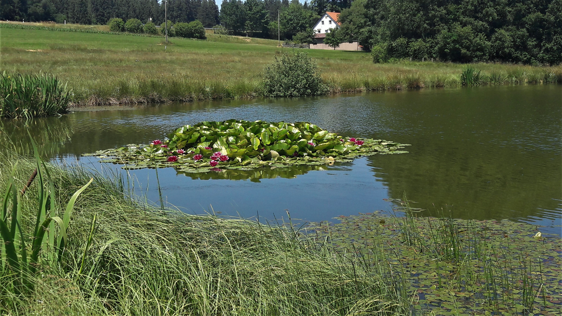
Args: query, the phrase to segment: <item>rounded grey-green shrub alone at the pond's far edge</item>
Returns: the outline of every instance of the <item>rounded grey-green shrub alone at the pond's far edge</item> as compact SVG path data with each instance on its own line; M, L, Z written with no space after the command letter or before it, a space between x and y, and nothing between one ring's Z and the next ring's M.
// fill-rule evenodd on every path
M328 92L322 82L318 65L306 52L275 56L273 64L264 69L264 96L298 97L318 96Z

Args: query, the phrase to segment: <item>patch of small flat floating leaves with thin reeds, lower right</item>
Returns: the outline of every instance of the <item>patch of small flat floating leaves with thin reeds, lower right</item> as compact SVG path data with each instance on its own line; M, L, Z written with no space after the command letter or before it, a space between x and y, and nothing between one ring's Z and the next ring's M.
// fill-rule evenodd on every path
M415 216L423 210L402 205L403 218L340 216L310 223L309 236L383 267L420 315L561 315L560 238L510 220Z

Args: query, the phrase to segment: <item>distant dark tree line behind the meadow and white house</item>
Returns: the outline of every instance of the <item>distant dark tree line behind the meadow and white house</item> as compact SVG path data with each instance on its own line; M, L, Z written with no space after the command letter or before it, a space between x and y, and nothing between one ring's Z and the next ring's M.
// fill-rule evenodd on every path
M302 32L310 40L311 27L325 11L341 11L352 0L223 0L221 10L214 0L169 0L168 20L199 20L206 28L222 25L232 33L277 38L278 14L281 37L292 39ZM107 24L113 18L124 21L152 19L164 22L162 0L0 0L0 19L12 21L56 21L79 24Z

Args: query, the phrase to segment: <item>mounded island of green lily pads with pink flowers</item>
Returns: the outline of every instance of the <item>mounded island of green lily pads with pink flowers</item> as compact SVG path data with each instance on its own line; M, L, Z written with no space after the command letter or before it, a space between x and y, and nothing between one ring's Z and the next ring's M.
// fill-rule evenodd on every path
M295 165L331 165L357 156L402 154L407 144L383 139L343 138L307 123L228 120L185 125L164 141L97 151L102 162L141 169L172 166L200 174Z

